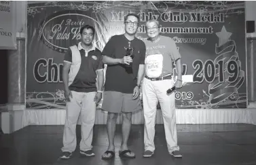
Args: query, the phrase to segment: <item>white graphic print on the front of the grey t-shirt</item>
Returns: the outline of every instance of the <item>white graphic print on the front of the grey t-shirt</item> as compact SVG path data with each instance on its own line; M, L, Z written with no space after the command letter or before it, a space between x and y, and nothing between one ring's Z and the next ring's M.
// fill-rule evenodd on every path
M160 53L147 55L145 59L145 68L148 77L159 77L162 74L163 55Z

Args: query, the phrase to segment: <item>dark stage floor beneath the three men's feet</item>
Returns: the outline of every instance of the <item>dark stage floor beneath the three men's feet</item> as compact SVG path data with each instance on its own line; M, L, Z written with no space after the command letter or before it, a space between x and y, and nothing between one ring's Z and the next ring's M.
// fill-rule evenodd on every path
M77 126L77 139L81 139ZM152 158L143 158L143 125L132 125L128 147L136 158L123 160L118 156L121 143L121 127L115 136L116 156L113 160L101 160L107 149L105 125L94 126L94 151L96 156L79 155L79 147L70 160L59 160L62 147L63 126L26 126L10 135L2 135L0 164L22 165L228 165L256 164L256 126L252 124L178 124L178 142L183 158L168 155L164 126L156 125L156 151ZM78 141L79 142L79 141Z

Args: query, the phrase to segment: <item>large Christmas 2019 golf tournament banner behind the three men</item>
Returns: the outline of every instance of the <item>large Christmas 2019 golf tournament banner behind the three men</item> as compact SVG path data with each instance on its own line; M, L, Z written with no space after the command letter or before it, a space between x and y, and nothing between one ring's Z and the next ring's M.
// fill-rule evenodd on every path
M244 1L31 3L26 107L65 108L62 60L68 47L79 42L79 28L94 26L94 44L102 51L111 36L124 33L129 13L141 20L139 39L147 38L145 22L157 19L162 35L177 43L183 75L193 75L194 80L177 90L177 108L246 108Z

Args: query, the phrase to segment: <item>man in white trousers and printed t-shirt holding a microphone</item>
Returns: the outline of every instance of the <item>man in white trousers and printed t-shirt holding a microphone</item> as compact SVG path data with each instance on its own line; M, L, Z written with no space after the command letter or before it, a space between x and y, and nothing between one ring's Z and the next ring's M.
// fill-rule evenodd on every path
M164 131L168 152L175 158L181 158L177 145L177 129L175 116L175 93L166 93L175 86L182 87L181 55L175 42L170 37L160 35L160 24L157 20L149 20L146 23L146 31L149 39L145 40L146 60L145 78L143 78L143 111L145 118L143 157L148 158L154 154L154 136L156 106L160 102L164 120ZM177 80L172 73L172 62L176 63Z

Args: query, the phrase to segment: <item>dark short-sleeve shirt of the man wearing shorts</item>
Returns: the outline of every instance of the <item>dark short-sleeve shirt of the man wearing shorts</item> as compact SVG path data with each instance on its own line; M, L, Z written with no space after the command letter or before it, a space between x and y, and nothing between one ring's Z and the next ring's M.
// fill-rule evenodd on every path
M137 38L129 41L124 34L115 35L105 45L103 55L121 59L126 55L129 42L133 48L132 67L128 68L124 64L107 65L105 91L133 93L139 65L145 64L145 43Z

